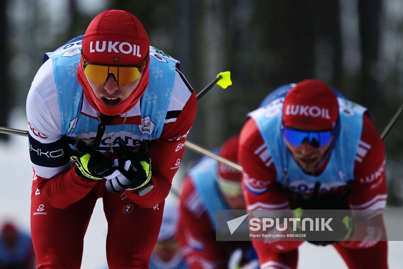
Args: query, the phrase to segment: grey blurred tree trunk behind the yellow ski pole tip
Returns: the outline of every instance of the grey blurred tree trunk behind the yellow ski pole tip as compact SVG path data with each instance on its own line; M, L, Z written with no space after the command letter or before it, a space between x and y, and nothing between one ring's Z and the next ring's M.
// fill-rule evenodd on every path
M200 92L208 83L216 78L216 75L228 66L226 51L226 17L228 10L223 0L204 0L196 4L198 20L194 38L199 48L197 49L197 84L196 93ZM212 27L214 25L214 27ZM213 148L218 147L226 139L225 131L228 130L228 121L224 116L222 107L223 92L219 86L212 90L198 104L198 110L204 114L202 123L202 145ZM214 137L214 138L213 138Z

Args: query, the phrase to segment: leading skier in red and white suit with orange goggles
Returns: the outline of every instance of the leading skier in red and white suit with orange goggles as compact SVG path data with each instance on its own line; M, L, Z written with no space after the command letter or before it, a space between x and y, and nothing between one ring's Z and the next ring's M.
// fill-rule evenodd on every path
M109 268L149 267L196 108L179 61L127 11L46 53L27 97L38 268L80 268L98 198Z

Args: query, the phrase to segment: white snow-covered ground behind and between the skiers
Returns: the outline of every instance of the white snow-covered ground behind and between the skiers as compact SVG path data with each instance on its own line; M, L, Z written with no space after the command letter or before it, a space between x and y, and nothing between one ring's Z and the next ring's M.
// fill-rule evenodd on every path
M24 112L16 112L16 118L10 128L27 130ZM0 141L0 226L10 219L26 232L29 232L30 192L32 167L29 161L28 139L13 136L10 143ZM175 179L174 179L175 180ZM107 225L102 208L102 200L98 200L87 234L84 238L84 253L81 268L104 269L106 265L105 242ZM388 261L392 269L402 268L403 242L389 242ZM339 254L331 247L316 247L305 243L300 247L300 269L314 268L347 268Z

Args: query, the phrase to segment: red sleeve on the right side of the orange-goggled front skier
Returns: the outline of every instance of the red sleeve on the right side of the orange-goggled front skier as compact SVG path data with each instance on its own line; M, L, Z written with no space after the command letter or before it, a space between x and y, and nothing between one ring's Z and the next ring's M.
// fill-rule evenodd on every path
M147 194L139 196L133 191L126 191L127 197L142 208L150 208L168 196L172 178L182 162L187 134L196 115L197 101L193 90L175 122L164 125L159 139L149 146L154 188Z

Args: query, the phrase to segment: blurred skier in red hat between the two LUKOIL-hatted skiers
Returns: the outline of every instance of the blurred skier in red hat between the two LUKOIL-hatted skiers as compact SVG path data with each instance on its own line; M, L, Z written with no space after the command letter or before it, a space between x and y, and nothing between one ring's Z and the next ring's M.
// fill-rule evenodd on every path
M222 145L219 155L237 162L239 137L231 137ZM216 241L216 210L245 209L241 188L241 172L204 157L187 173L180 199L179 244L189 268L228 268L256 258L250 242ZM224 227L228 229L227 227Z

